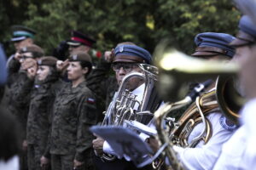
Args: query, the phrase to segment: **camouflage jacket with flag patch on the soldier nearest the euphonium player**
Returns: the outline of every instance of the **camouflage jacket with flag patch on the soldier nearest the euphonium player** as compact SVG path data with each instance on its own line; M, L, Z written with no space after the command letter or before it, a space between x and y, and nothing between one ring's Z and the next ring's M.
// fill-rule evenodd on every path
M97 122L95 95L86 82L76 88L72 88L72 83L63 86L52 113L50 154L74 154L76 160L84 161L94 139L89 128Z

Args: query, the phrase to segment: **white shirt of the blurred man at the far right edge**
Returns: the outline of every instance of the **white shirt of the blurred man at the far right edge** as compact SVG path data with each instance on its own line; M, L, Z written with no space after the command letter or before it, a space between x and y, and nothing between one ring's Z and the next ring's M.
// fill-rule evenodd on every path
M222 148L214 166L218 169L256 169L256 99L251 99L241 110L242 126Z

